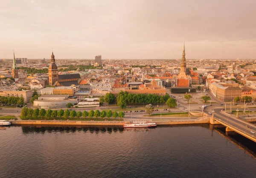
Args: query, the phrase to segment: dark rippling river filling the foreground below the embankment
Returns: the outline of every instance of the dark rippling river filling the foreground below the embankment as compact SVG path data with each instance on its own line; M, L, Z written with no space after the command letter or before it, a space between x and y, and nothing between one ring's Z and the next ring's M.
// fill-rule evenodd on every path
M205 125L10 126L0 178L256 177L256 143Z

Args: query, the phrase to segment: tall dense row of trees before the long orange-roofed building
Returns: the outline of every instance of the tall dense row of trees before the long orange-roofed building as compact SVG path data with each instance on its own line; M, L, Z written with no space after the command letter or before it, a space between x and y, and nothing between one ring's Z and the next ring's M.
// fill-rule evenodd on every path
M126 108L127 104L142 104L142 103L150 103L150 104L162 104L165 103L170 96L166 93L165 96L152 95L152 94L132 94L128 92L119 92L116 97L117 105L122 109Z

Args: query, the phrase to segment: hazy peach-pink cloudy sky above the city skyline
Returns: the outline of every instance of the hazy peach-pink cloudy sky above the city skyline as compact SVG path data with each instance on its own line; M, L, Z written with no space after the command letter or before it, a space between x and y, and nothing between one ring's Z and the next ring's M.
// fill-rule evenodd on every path
M256 0L0 0L0 58L256 58Z

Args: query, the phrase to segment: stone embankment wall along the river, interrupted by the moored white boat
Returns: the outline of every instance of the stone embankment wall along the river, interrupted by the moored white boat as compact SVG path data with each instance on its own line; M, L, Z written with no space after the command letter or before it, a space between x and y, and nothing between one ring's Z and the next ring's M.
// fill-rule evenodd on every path
M123 121L47 121L47 120L10 120L15 125L72 125L72 126L122 126ZM209 117L204 116L198 119L187 120L160 120L154 121L157 125L177 125L177 124L199 124L209 123Z

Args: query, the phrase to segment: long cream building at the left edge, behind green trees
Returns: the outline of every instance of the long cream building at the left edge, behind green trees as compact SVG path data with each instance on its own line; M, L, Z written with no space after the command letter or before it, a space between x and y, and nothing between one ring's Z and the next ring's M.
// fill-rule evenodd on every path
M5 96L5 97L23 97L24 98L24 103L29 103L30 99L32 98L33 95L33 90L12 90L10 88L7 89L0 89L0 96Z

